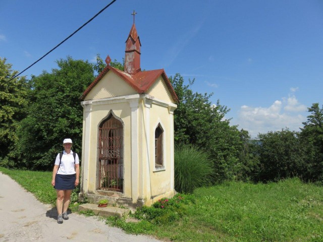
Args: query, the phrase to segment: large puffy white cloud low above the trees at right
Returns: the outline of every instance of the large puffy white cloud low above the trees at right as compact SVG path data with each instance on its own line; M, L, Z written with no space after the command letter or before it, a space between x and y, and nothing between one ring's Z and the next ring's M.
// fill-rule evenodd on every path
M304 112L306 106L300 104L295 96L276 100L269 107L252 107L243 105L238 111L238 119L235 123L239 129L249 132L251 137L256 137L259 133L264 134L269 131L280 131L288 128L299 131L303 127L302 122L306 120Z

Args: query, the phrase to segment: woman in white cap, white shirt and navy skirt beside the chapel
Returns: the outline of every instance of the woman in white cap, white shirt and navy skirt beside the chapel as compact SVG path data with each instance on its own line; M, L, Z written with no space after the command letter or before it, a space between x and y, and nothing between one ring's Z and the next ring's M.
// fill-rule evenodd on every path
M59 153L56 156L51 179L51 185L54 186L57 193L58 223L63 223L63 219L69 219L67 209L70 204L71 193L75 186L79 185L80 176L79 157L76 153L73 155L74 152L71 150L72 140L65 139L63 147L63 154Z

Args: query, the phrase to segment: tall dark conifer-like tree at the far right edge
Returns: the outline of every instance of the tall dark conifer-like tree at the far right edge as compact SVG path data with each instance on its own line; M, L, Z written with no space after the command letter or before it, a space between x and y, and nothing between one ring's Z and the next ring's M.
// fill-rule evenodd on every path
M311 114L303 123L301 129L301 143L306 152L306 179L323 180L323 106L313 103L308 108Z

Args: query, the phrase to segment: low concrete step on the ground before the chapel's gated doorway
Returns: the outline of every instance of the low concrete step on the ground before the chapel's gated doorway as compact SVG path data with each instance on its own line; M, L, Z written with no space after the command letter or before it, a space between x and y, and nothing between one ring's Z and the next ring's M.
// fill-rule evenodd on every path
M79 211L86 211L92 210L96 215L103 216L103 217L110 217L110 216L127 216L130 212L130 209L126 208L118 208L118 207L104 207L100 208L97 204L91 203L84 203L79 206Z

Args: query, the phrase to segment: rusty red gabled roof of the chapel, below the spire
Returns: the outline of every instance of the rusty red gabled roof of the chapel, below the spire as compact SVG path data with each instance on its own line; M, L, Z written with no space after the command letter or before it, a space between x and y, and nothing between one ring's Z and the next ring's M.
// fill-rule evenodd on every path
M170 91L174 101L178 102L178 97L172 87L171 82L168 80L168 77L164 69L152 70L152 71L143 71L136 74L128 74L126 72L120 71L114 67L107 65L103 71L96 77L96 79L86 88L86 90L81 95L81 99L84 100L86 95L92 90L92 88L103 78L103 76L112 71L121 77L125 82L127 82L133 89L135 89L139 94L146 93L148 89L154 84L159 76L163 77L165 83Z

